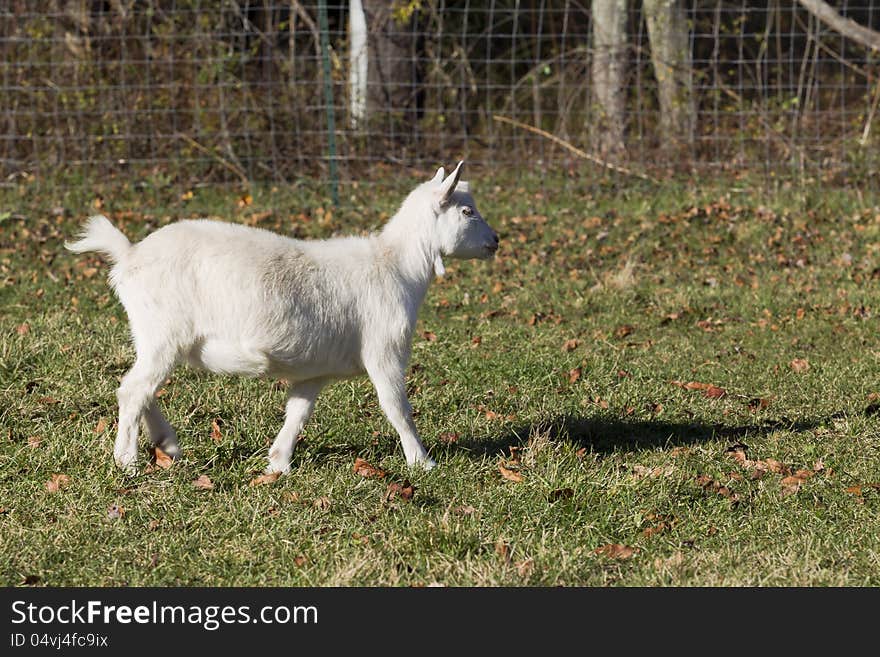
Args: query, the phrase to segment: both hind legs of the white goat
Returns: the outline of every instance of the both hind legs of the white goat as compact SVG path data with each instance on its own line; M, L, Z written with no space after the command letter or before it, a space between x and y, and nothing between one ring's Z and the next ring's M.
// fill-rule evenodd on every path
M119 430L113 446L113 459L116 465L128 472L133 472L135 468L138 424L144 412L147 412L147 428L151 436L166 436L165 428L171 429L158 407L155 407L154 395L173 364L173 357L161 352L146 355L139 351L135 364L122 377L116 393L119 399ZM171 435L174 436L173 429Z

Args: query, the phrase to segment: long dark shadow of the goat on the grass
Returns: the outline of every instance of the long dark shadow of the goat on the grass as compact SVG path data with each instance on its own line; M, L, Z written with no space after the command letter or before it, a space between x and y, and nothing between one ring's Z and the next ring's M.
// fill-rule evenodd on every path
M533 435L546 435L553 442L567 442L598 454L641 451L658 447L694 445L713 440L740 442L774 431L800 433L822 426L836 415L821 419L775 419L748 424L669 422L626 418L557 416L514 427L494 436L461 437L449 452L462 450L474 458L495 455L511 447L524 447Z

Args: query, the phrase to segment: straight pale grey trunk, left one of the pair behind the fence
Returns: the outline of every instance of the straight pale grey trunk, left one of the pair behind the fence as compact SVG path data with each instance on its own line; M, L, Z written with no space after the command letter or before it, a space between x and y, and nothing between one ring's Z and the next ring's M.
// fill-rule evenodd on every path
M624 154L626 107L626 2L593 0L593 99L598 120L595 147L603 158Z

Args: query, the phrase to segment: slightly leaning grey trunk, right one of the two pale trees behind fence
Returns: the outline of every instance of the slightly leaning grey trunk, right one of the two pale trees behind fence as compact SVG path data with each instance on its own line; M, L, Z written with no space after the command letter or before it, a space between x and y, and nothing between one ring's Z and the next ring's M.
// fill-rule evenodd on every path
M681 0L644 0L651 61L660 98L660 130L666 145L694 139L693 63Z

